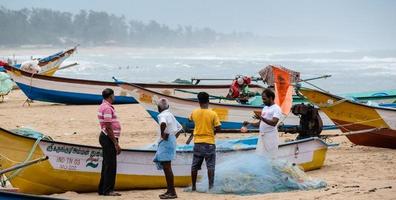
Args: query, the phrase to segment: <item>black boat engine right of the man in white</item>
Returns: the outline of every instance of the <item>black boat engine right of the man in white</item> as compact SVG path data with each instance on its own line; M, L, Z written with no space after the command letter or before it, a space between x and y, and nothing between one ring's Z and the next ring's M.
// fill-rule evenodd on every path
M297 140L319 137L323 130L322 118L319 115L319 109L309 104L296 104L291 109L292 113L300 117L300 124L293 127L280 126L278 129L281 132L296 134Z

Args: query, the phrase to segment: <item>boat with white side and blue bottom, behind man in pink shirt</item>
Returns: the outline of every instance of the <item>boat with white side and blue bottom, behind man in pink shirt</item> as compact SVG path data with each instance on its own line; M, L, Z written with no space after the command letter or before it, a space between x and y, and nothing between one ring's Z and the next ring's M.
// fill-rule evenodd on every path
M71 79L54 76L43 76L31 74L18 68L6 66L7 73L16 82L18 87L31 100L45 101L63 104L100 104L102 102L102 91L105 88L111 88L115 92L115 104L137 103L137 101L128 96L126 91L122 90L115 82L93 81L82 79ZM138 85L150 88L152 90L176 95L177 90L188 89L191 91L208 91L220 92L228 90L228 85L180 85L180 84L145 84ZM253 88L261 90L262 87L254 85ZM179 95L179 94L177 94ZM188 98L188 96L181 96Z

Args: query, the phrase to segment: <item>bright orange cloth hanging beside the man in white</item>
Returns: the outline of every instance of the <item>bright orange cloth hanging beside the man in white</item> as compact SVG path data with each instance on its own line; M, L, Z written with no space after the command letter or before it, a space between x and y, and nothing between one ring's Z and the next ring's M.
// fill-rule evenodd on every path
M293 86L290 83L290 73L275 66L273 66L272 72L275 83L275 103L281 107L282 113L287 115L293 102Z

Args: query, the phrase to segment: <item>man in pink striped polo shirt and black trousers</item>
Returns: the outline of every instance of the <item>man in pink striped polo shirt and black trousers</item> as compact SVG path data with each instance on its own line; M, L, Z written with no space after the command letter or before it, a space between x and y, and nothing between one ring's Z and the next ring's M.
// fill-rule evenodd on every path
M103 162L98 193L104 196L121 196L121 194L114 192L117 155L121 153L121 147L118 144L121 125L112 106L114 91L106 88L103 90L102 96L103 102L99 106L98 119L101 128L99 143L103 148Z

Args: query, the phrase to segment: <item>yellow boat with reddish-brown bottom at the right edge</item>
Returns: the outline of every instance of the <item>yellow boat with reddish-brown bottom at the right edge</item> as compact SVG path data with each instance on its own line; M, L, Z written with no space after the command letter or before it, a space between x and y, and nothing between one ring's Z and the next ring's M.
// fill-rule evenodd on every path
M368 106L329 93L301 88L354 144L396 149L396 109Z

